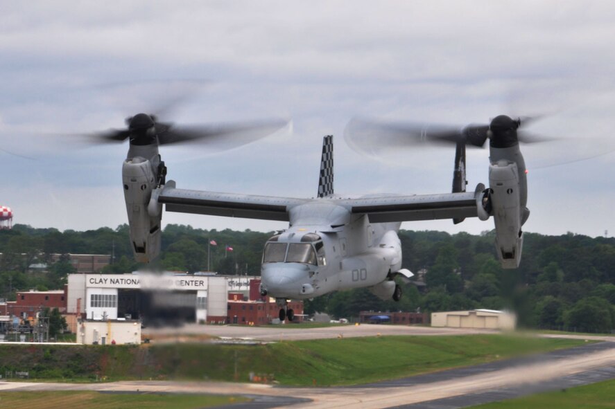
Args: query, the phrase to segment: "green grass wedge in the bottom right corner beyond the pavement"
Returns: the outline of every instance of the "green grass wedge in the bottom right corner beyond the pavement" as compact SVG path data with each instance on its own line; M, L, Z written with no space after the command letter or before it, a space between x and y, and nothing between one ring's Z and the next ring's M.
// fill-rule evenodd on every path
M605 409L615 407L615 380L472 406L473 409Z

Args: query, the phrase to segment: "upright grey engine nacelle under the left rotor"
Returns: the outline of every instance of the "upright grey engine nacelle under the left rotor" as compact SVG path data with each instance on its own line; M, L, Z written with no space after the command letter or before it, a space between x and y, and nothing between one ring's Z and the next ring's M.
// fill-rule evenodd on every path
M158 203L150 206L152 191L157 184L156 176L150 161L136 156L124 161L122 179L132 251L135 253L137 262L147 263L158 257L160 253L162 211L159 211Z

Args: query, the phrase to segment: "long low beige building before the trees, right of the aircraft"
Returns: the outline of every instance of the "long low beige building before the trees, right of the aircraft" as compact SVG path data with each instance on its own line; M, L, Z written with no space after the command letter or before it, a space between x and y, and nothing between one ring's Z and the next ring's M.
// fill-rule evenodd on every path
M431 313L432 327L514 329L516 325L514 313L494 309Z

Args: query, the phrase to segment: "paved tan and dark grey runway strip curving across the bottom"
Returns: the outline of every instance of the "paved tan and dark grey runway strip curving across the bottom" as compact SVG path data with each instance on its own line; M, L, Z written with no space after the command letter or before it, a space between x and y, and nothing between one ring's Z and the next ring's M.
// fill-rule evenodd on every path
M282 388L213 382L124 381L96 384L0 383L3 390L99 390L242 394L255 397L232 408L453 409L615 378L615 343L601 342L530 358L462 367L406 379L340 388Z

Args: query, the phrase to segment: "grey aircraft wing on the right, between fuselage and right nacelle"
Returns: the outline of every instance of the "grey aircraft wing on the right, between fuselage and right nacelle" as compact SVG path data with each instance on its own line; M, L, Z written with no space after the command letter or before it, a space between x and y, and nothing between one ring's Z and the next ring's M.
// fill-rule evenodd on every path
M478 217L477 192L340 199L352 213L365 213L373 223Z

